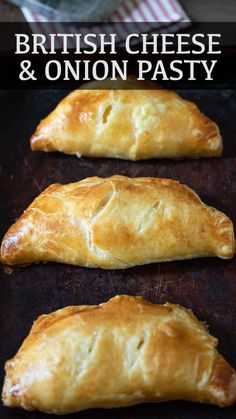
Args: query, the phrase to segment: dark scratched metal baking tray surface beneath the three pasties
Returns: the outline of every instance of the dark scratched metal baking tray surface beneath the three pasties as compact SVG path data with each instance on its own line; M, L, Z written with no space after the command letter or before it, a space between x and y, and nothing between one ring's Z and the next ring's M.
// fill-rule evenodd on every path
M0 238L27 205L52 182L87 176L158 176L179 179L208 204L228 214L236 225L236 92L188 91L203 111L220 125L225 142L220 159L125 162L60 154L32 153L28 138L65 92L0 92ZM0 267L0 372L41 313L69 304L96 304L119 293L142 295L157 303L170 301L191 308L220 340L219 349L236 367L236 258L199 259L128 270L102 271L49 263ZM110 411L91 410L78 419L233 419L236 408L220 409L187 402L142 405ZM69 416L69 417L72 417ZM42 413L11 411L0 406L1 419L42 419Z

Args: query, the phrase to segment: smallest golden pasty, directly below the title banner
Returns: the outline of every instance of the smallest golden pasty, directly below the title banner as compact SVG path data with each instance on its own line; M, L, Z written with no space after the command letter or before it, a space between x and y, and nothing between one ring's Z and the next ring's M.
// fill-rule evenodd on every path
M195 104L150 85L156 86L129 81L132 90L112 90L109 80L102 90L95 82L84 85L39 124L32 150L128 160L220 156L217 125Z

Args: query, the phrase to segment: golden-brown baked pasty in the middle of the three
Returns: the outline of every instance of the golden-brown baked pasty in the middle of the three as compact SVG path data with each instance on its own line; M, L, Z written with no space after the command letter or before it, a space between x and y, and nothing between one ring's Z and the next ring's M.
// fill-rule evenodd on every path
M1 261L128 268L234 254L230 219L174 180L112 176L51 185L6 233Z

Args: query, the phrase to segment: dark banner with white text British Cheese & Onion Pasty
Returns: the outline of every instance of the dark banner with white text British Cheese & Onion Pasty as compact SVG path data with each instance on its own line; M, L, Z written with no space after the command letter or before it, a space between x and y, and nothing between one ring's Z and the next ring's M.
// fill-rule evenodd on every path
M131 76L154 88L236 86L234 23L182 23L177 33L164 23L2 23L0 54L1 89L103 88L107 78L131 89Z

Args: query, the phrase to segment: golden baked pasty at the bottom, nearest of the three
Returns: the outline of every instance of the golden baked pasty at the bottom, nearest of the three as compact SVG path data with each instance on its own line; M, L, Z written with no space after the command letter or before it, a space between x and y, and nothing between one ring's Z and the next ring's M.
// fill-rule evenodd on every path
M177 399L228 406L236 374L216 345L178 305L123 295L65 307L40 316L6 363L3 403L57 414Z

